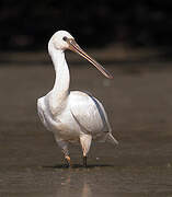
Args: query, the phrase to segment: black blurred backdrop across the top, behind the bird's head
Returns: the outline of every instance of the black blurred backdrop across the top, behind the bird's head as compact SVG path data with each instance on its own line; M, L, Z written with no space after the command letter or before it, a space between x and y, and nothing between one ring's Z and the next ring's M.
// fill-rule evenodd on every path
M171 8L169 0L1 0L0 49L46 48L58 30L69 31L87 47L171 46Z

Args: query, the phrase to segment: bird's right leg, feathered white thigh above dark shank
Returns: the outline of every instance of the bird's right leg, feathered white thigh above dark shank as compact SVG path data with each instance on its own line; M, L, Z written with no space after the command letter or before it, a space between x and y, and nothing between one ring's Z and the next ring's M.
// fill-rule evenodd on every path
M80 136L80 142L81 142L82 152L83 152L83 166L84 167L87 167L87 155L90 150L91 140L92 140L92 136L90 136L90 135L82 134Z

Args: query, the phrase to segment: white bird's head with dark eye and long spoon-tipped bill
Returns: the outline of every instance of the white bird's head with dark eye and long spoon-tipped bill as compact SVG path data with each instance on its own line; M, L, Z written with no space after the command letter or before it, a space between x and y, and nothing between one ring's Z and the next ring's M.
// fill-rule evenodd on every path
M95 66L106 78L113 79L113 76L105 70L98 61L95 61L92 57L90 57L74 40L74 38L66 31L58 31L56 32L49 43L48 43L48 51L50 54L51 49L56 50L72 50L80 56L82 56L84 59L90 61L93 66Z

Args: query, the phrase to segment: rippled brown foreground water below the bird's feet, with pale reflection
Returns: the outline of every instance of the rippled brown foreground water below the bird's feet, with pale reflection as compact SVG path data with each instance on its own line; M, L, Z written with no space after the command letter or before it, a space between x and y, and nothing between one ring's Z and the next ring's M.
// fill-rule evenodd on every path
M170 196L171 169L10 169L0 173L1 196Z

